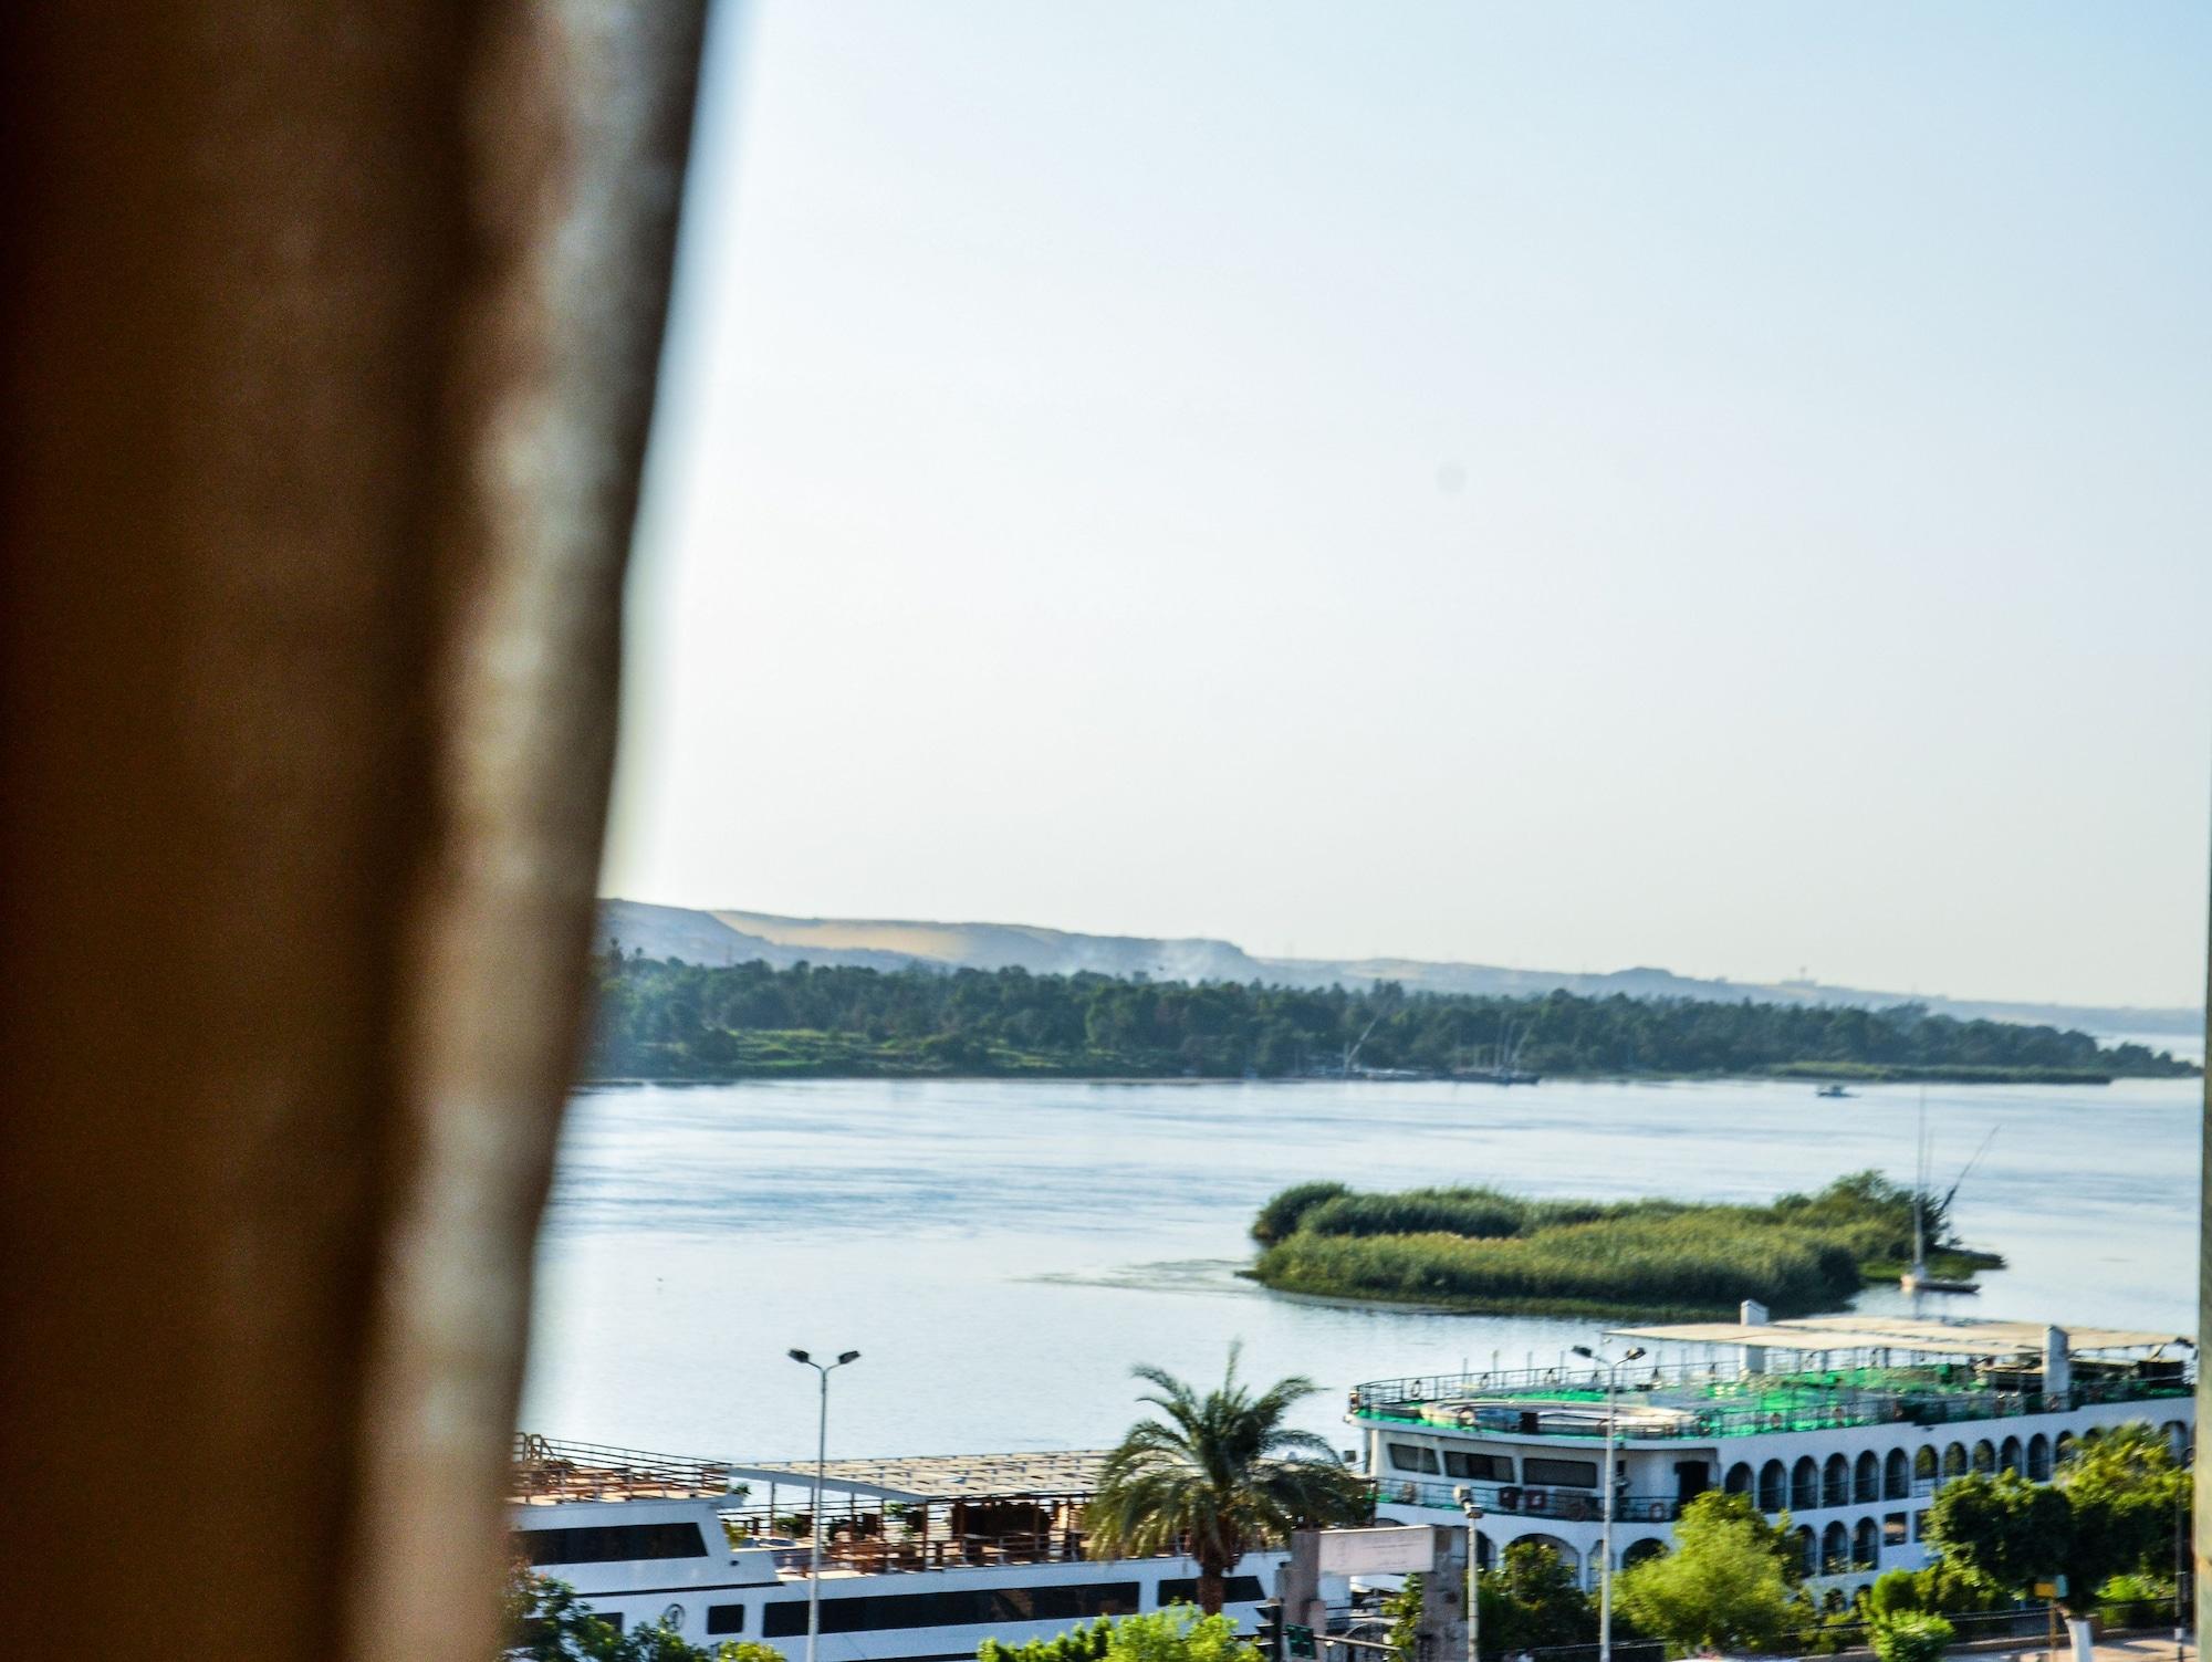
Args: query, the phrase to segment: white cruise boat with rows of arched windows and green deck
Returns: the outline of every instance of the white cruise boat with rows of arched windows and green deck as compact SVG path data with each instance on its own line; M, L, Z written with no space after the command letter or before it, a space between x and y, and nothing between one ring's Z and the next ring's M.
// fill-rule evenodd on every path
M1721 1487L1787 1512L1805 1569L1851 1589L1929 1563L1929 1496L1964 1472L2048 1481L2084 1432L2161 1428L2188 1452L2194 1342L2177 1333L1836 1315L1619 1328L1617 1390L1590 1366L1383 1379L1352 1392L1378 1521L1482 1507L1478 1551L1542 1540L1584 1585L1599 1565L1606 1430L1615 1567L1659 1551L1686 1501ZM1442 1514L1442 1516L1440 1516Z

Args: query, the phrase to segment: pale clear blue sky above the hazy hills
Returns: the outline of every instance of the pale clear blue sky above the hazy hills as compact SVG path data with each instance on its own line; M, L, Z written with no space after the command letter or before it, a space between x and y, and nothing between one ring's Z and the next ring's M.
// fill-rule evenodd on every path
M2194 1003L2212 9L726 7L604 893Z

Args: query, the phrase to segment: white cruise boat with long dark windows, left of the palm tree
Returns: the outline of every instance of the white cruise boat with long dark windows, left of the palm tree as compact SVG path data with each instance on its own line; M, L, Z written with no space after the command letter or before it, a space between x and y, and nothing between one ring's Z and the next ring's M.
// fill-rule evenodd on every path
M1051 1638L1095 1616L1194 1600L1190 1558L1084 1556L1082 1510L1104 1459L830 1461L821 1662L973 1662L987 1638ZM617 1627L666 1622L695 1644L761 1640L796 1662L812 1483L812 1463L518 1437L513 1551ZM1223 1609L1241 1627L1274 1593L1281 1563L1281 1551L1252 1551L1237 1565Z

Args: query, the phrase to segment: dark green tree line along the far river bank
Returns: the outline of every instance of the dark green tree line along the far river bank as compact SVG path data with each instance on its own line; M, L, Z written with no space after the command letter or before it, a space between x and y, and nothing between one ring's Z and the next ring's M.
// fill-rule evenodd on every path
M2143 1045L1924 1006L1148 981L1029 970L708 968L599 955L595 1079L1453 1074L2115 1079L2197 1070Z

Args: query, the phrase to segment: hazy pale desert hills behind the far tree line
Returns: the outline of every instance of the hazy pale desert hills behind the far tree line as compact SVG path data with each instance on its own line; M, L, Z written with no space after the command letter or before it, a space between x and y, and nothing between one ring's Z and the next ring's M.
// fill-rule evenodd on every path
M1725 981L1659 968L1509 970L1493 964L1429 964L1422 959L1312 959L1254 957L1234 942L1206 937L1152 939L1141 935L1079 935L1035 924L931 924L872 917L779 917L745 911L692 911L635 900L599 902L599 937L646 957L686 964L845 964L896 970L909 964L1037 975L1148 975L1155 981L1267 981L1274 986L1345 986L1398 981L1416 992L1531 997L1564 988L1582 995L1624 992L1635 999L1754 999L1763 1003L1845 1003L1880 1010L1924 1003L1962 1021L2028 1021L2057 1028L2126 1034L2201 1034L2203 1010L2020 1003L1951 999L1924 992L1880 992L1820 981Z

